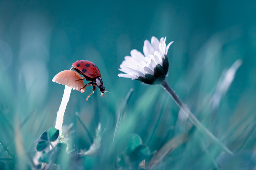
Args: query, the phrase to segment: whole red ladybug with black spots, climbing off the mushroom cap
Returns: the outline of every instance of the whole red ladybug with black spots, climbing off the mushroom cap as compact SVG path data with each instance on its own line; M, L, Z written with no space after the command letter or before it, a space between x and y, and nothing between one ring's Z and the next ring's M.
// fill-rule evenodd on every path
M71 70L72 69L76 70L79 74L84 76L83 79L79 79L76 81L80 81L80 80L84 80L84 79L86 79L87 81L90 81L81 89L84 89L86 86L93 86L92 93L94 93L96 86L97 86L101 91L100 96L103 96L103 94L106 93L105 87L103 86L103 82L102 82L102 79L100 76L100 70L91 61L77 60L76 62L74 62L72 64ZM92 95L92 93L89 96L87 96L86 101Z

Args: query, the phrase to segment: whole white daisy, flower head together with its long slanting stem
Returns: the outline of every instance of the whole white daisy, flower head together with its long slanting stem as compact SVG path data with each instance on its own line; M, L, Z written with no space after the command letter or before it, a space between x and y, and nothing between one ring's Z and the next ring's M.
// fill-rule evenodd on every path
M152 37L151 43L148 40L145 40L143 46L143 53L145 56L135 49L132 50L131 56L125 56L124 61L119 68L120 71L126 74L118 74L118 76L140 80L147 84L161 84L199 131L203 132L206 136L212 139L212 141L217 143L224 152L233 155L233 153L223 145L218 138L199 122L165 80L169 68L167 52L170 45L173 43L172 41L166 46L165 39L166 37L162 37L160 41L158 41L156 37Z

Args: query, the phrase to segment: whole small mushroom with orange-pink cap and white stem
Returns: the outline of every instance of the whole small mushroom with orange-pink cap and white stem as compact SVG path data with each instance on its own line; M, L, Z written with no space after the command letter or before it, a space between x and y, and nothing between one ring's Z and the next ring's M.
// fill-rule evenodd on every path
M64 94L60 103L59 111L57 112L55 124L55 128L58 129L59 131L61 131L62 129L63 117L66 110L66 106L68 104L71 89L81 91L82 93L84 93L84 89L81 89L84 87L84 81L76 81L80 79L80 75L73 70L61 71L60 73L56 74L52 79L53 82L65 85Z

